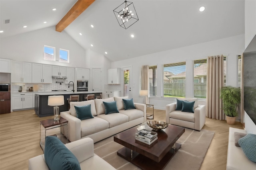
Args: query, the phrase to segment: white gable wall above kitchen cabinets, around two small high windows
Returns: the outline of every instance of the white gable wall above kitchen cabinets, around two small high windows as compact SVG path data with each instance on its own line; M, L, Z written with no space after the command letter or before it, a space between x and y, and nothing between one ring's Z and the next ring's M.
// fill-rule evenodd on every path
M85 50L65 31L61 33L55 31L54 26L1 38L0 43L1 58L70 67L87 68L90 66L85 62ZM69 50L70 63L44 60L44 45L55 47L56 56L59 56L60 48Z

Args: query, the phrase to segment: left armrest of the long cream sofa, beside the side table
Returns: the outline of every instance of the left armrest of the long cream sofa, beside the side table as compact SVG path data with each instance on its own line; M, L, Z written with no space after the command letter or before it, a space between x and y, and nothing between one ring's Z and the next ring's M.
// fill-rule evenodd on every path
M60 112L60 117L68 121L68 140L73 142L81 139L81 120L70 115L69 111ZM66 131L64 130L64 132Z

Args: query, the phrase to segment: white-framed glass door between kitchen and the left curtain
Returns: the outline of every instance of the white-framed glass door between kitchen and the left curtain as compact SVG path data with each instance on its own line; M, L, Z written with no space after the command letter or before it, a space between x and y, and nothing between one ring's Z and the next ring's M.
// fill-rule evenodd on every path
M122 68L122 92L123 96L132 98L132 68Z

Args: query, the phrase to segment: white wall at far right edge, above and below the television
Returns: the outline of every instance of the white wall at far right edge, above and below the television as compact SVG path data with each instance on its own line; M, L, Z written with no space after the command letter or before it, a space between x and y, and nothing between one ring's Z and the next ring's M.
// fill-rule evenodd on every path
M256 0L245 0L245 18L244 18L244 28L245 28L245 49L252 41L253 37L256 35ZM244 124L247 133L256 134L256 125L253 123L252 119L244 113Z

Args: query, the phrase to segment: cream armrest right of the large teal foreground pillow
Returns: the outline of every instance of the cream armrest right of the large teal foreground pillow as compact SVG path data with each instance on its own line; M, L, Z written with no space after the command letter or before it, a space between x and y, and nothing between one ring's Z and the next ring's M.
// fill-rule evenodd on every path
M76 156L79 163L94 156L94 143L91 138L86 137L65 146Z

